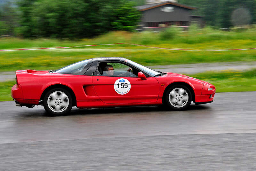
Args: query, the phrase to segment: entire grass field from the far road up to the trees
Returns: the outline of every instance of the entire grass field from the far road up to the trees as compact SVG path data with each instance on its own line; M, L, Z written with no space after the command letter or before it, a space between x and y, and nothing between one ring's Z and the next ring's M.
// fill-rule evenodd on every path
M256 47L256 29L220 31L193 30L181 32L112 32L94 39L56 40L49 38L1 38L0 50L67 47L90 44L138 43L149 46L183 49L240 49ZM0 51L0 71L18 69L54 70L94 57L124 57L142 65L173 65L211 62L256 61L256 50L245 51L173 51L133 46L129 44L80 48Z

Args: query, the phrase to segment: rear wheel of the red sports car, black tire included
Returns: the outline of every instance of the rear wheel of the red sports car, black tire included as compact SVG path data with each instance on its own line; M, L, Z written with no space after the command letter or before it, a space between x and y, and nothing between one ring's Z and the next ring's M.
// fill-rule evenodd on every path
M69 113L73 99L66 89L55 88L44 96L44 109L50 116L62 116Z

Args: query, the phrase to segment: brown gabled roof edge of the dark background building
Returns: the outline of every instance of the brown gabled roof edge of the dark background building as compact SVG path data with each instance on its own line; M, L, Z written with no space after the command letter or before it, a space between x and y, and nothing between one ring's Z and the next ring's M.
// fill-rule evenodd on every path
M170 1L156 3L156 4L147 4L147 5L136 6L136 8L140 11L146 11L146 10L156 8L156 7L159 7L159 6L163 6L163 5L166 5L166 4L171 4L171 5L179 6L179 7L182 7L182 8L187 8L189 10L195 10L196 9L195 7L192 7L192 6L183 5L183 4L179 4L179 3L174 3L174 2L170 2Z

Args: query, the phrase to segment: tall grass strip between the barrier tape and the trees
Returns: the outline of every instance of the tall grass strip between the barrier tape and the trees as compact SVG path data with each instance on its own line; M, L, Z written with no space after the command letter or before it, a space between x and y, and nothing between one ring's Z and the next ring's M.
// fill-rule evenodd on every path
M182 32L183 31L183 32ZM238 32L237 32L238 31ZM214 30L210 27L198 29L191 26L188 30L172 27L159 33L139 32L130 33L124 31L110 32L93 39L81 39L76 41L58 40L50 38L22 39L22 38L0 38L0 49L16 48L44 48L60 46L79 46L85 44L111 44L111 43L138 43L147 45L169 44L179 45L180 48L206 43L208 45L222 47L222 42L238 47L239 45L256 45L256 28L231 31ZM248 42L241 43L241 42ZM211 46L212 46L211 45ZM225 46L224 46L225 47Z

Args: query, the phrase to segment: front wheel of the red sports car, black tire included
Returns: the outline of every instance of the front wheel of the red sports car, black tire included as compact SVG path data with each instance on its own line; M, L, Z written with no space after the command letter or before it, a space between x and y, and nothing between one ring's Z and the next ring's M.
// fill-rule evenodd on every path
M187 109L191 101L191 92L184 85L174 85L170 87L164 96L164 104L166 107L177 111Z

